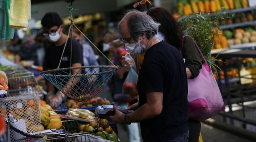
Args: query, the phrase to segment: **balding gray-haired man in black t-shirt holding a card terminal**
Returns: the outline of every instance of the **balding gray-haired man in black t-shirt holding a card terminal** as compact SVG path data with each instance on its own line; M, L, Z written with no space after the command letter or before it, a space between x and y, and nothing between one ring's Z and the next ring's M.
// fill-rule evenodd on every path
M183 58L173 46L155 35L160 24L150 16L132 10L118 25L125 48L130 54L145 53L138 79L139 102L130 106L133 113L124 115L114 105L116 123L140 122L144 142L187 142L187 77ZM131 68L129 59L123 64Z

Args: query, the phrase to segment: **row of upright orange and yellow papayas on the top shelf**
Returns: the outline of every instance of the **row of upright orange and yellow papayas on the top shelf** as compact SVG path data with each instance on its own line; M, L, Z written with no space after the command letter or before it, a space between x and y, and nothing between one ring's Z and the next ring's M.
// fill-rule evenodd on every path
M247 0L178 0L178 12L185 15L201 13L215 13L225 10L240 9L248 7Z

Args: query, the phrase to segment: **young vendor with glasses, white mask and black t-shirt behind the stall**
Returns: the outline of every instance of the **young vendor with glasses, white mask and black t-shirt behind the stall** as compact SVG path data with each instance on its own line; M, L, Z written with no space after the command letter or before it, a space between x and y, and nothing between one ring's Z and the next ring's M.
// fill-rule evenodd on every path
M60 63L60 58L67 41L65 51L62 56L60 68L70 67L70 49L71 49L71 38L62 32L63 22L60 16L55 12L49 12L44 15L41 20L41 24L44 29L44 36L52 43L45 49L44 57L44 71L56 69ZM72 67L79 67L84 64L82 47L78 41L72 40ZM72 74L81 73L80 69L75 69L71 72ZM64 82L64 81L63 81ZM49 81L47 83L47 95L45 97L46 102L51 105L53 109L59 108L60 103L65 101L66 96L58 91ZM66 86L64 84L64 86ZM69 88L68 88L69 87ZM71 86L67 86L64 89L71 89Z

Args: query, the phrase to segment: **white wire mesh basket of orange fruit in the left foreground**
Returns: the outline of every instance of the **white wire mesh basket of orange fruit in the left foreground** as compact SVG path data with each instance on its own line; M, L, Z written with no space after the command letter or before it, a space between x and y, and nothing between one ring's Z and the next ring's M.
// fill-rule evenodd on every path
M25 139L25 134L42 135L39 97L30 95L3 98L0 99L0 106L0 115L10 127L23 133L10 129L11 141Z

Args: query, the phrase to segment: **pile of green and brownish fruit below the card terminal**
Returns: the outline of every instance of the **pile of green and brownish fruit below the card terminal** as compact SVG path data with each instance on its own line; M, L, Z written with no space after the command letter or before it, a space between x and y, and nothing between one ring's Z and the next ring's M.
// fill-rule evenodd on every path
M80 133L83 133L84 131L91 132L94 130L96 125L97 125L96 122L91 122L89 124L82 124L79 126L79 130L81 131ZM73 134L77 134L77 133L73 133ZM118 141L118 137L115 131L112 130L112 128L109 126L108 120L106 119L101 119L100 123L98 124L98 130L95 133L92 132L91 134L99 138L108 139L114 142Z

